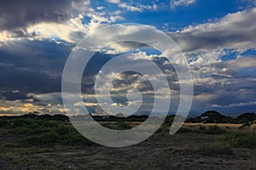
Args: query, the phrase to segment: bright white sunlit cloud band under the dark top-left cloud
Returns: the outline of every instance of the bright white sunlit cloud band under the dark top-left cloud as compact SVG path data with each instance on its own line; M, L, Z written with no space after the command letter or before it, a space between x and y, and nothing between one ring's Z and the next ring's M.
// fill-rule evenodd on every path
M26 28L20 28L18 31L0 31L1 43L15 42L22 39L44 40L50 39L56 43L61 41L77 43L86 34L90 34L104 26L102 23L113 23L117 20L123 20L119 14L104 15L100 13L87 14L90 17L90 23L83 24L84 16L79 14L78 17L67 20L64 23L41 22ZM59 39L61 41L56 41Z

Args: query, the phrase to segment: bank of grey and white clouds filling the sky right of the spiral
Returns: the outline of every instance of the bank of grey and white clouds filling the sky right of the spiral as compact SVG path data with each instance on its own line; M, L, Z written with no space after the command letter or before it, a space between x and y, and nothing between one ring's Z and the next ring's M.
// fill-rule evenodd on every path
M194 75L192 110L246 108L255 97L256 8L168 33L189 59ZM228 60L224 61L226 56ZM230 56L230 58L229 58ZM235 110L234 110L235 111Z

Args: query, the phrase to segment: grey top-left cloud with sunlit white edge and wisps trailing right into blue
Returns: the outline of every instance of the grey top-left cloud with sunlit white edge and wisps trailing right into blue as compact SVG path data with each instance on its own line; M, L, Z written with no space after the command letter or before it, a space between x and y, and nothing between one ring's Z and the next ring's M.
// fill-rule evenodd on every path
M16 4L12 1L3 3L0 7L0 46L27 39L30 41L46 39L56 43L75 44L104 24L123 20L119 10L97 11L90 7L89 0L50 2L27 0L26 3L17 1ZM41 3L42 5L38 7ZM1 8L9 8L9 10L1 11ZM17 16L9 12L15 10L18 11Z

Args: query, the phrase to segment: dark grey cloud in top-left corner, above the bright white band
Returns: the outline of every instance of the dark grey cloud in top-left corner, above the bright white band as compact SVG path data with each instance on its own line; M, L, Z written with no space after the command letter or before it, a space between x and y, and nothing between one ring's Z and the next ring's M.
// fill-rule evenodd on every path
M38 22L62 22L83 6L83 0L1 0L0 30L14 30ZM22 32L20 32L22 33Z

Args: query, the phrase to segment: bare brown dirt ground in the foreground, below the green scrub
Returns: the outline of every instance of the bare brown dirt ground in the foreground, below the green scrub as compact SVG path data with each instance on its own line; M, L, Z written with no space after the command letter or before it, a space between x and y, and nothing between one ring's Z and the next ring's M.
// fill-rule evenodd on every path
M177 133L153 135L125 148L17 145L19 137L1 130L0 169L256 169L256 150L236 149L233 154L202 153L203 145L222 135Z

